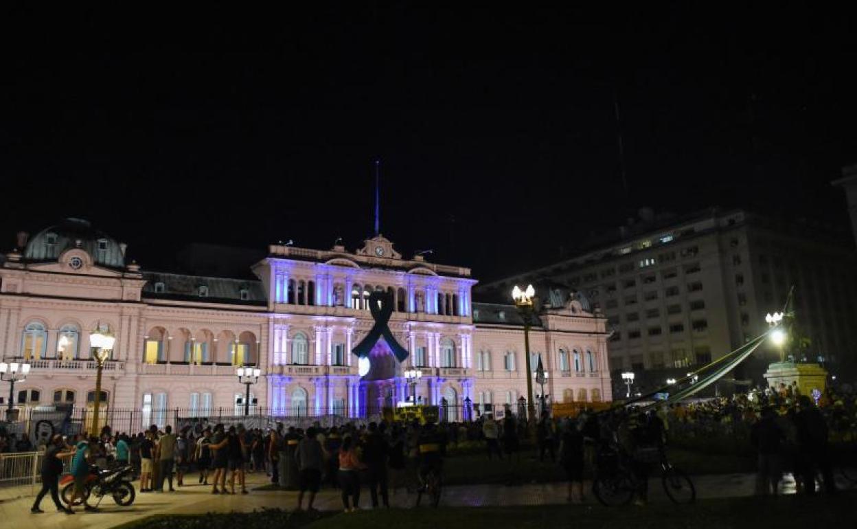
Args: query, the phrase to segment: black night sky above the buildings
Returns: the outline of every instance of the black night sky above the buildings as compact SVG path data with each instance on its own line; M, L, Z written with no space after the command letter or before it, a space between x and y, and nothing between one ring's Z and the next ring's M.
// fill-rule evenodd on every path
M191 241L353 248L375 158L381 231L484 280L643 206L847 229L830 188L857 162L847 12L173 4L3 5L4 250L65 216L144 267Z

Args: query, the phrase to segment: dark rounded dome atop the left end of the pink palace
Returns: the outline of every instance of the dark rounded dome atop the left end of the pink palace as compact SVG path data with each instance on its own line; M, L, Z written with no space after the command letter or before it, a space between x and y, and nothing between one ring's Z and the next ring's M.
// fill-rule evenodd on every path
M31 262L57 261L69 249L81 249L91 255L93 262L107 268L125 268L125 245L95 230L88 220L64 219L57 225L39 231L24 250L24 260Z

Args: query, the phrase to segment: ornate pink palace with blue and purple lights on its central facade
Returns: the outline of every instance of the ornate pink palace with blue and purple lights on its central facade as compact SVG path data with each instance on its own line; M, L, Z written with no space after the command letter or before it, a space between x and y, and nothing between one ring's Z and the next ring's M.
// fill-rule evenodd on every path
M0 268L3 361L32 365L15 404L92 406L88 336L99 326L117 337L102 402L139 412L142 424L163 424L175 408L240 414L235 370L243 364L261 368L252 387L259 406L283 417L363 417L395 406L411 397L403 376L411 368L423 373L425 403L468 398L499 409L526 395L515 307L473 302L469 268L403 259L382 236L353 252L272 245L252 267L258 280L144 271L81 219L25 239ZM377 290L393 298L388 325L410 355L399 363L380 342L358 366L351 349L375 324L369 295ZM568 292L540 292L539 304L530 349L533 365L542 358L550 400L610 400L606 320ZM460 412L453 407L450 418Z

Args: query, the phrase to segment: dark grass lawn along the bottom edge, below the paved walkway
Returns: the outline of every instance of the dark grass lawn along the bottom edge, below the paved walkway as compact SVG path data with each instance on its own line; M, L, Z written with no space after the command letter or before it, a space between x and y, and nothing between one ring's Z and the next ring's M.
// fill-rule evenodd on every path
M781 497L774 500L740 498L706 500L689 506L647 507L544 506L503 508L417 508L336 514L316 520L306 529L758 529L758 527L854 527L854 494L835 498ZM249 529L245 527L243 529Z

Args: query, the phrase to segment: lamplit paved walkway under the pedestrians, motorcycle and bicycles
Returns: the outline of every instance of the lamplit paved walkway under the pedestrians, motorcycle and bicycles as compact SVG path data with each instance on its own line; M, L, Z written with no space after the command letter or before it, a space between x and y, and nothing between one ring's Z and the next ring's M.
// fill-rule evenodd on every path
M249 475L248 487L267 484L265 476ZM750 496L754 489L752 474L722 474L693 478L698 498L717 498L730 496ZM846 484L841 484L843 488ZM136 486L136 484L135 484ZM584 486L590 490L590 484ZM794 493L794 480L789 476L782 483L785 494ZM587 501L596 499L587 492ZM416 496L407 494L404 489L394 490L390 496L393 507L408 508L414 505ZM195 514L206 512L228 512L232 510L252 511L267 508L294 508L297 493L282 490L252 490L249 495L222 496L211 494L208 486L189 484L175 493L137 494L137 499L129 508L118 507L110 498L105 498L98 513L84 513L69 516L54 510L50 496L45 497L41 507L45 514L30 514L33 498L25 497L0 502L2 527L27 529L100 529L113 527L151 514ZM441 504L447 506L491 506L491 505L547 505L566 501L565 484L521 484L505 486L499 484L478 484L448 486L443 490ZM650 501L668 502L659 478L650 481ZM363 487L360 505L369 508L369 491ZM342 504L337 490L322 490L316 508L321 510L340 510Z

